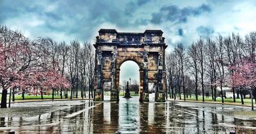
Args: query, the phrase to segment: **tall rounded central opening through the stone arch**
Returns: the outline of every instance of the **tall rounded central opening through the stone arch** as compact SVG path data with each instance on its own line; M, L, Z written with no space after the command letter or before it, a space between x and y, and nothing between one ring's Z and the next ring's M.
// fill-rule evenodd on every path
M120 97L124 96L125 87L129 83L132 96L139 95L140 92L140 67L134 61L125 61L120 66L119 89Z

